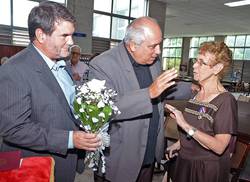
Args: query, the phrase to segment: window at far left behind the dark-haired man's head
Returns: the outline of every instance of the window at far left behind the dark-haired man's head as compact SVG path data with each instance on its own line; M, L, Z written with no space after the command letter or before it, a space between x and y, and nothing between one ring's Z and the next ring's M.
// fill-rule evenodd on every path
M66 0L52 1L67 3ZM0 0L0 43L24 46L29 44L28 15L39 2L40 0Z

